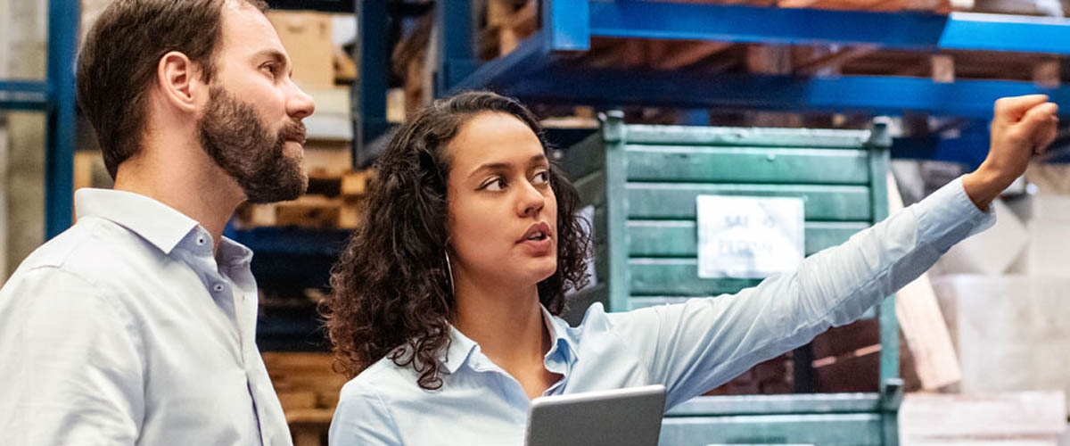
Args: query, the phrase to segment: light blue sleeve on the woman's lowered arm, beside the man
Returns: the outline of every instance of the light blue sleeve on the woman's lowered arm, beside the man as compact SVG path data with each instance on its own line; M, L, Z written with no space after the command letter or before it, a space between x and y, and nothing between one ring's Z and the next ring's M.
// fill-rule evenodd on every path
M401 446L389 407L372 389L347 385L331 420L332 446Z

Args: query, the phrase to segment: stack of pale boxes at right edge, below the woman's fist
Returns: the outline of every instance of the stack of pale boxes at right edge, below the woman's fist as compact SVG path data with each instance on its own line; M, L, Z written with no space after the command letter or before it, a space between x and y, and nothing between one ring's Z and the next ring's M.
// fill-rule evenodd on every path
M995 227L952 248L933 286L963 394L1058 390L1070 402L1070 189L1028 190L997 200Z

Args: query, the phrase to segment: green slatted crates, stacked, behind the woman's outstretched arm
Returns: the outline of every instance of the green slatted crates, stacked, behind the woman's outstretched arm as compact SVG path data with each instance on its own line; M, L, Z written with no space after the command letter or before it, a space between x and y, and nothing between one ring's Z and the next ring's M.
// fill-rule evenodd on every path
M700 279L696 197L802 197L806 255L887 217L888 147L873 130L628 125L620 112L568 149L562 165L594 205L598 283L571 302L610 311L734 293L756 279ZM699 397L664 419L661 445L896 445L899 326L881 322L882 391Z

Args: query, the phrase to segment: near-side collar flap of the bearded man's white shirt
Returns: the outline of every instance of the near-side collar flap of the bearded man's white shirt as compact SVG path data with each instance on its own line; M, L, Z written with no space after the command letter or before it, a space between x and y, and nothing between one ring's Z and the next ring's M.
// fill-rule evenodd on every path
M74 193L78 218L100 217L149 241L165 255L198 226L174 209L143 195L125 190L81 188Z

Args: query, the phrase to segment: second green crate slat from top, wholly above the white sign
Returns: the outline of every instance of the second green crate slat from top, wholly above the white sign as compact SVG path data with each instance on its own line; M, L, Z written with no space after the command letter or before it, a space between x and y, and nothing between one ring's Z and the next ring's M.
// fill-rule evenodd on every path
M628 181L777 184L870 182L865 150L627 145Z

